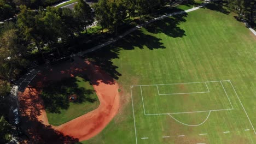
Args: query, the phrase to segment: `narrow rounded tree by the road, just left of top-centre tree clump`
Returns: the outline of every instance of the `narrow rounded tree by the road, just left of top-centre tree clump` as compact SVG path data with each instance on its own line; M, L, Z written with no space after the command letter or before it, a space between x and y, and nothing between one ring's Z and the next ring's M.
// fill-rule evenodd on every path
M87 33L87 26L91 25L94 22L92 17L90 5L83 0L78 0L78 3L74 7L75 15L80 20L80 25L84 27Z

